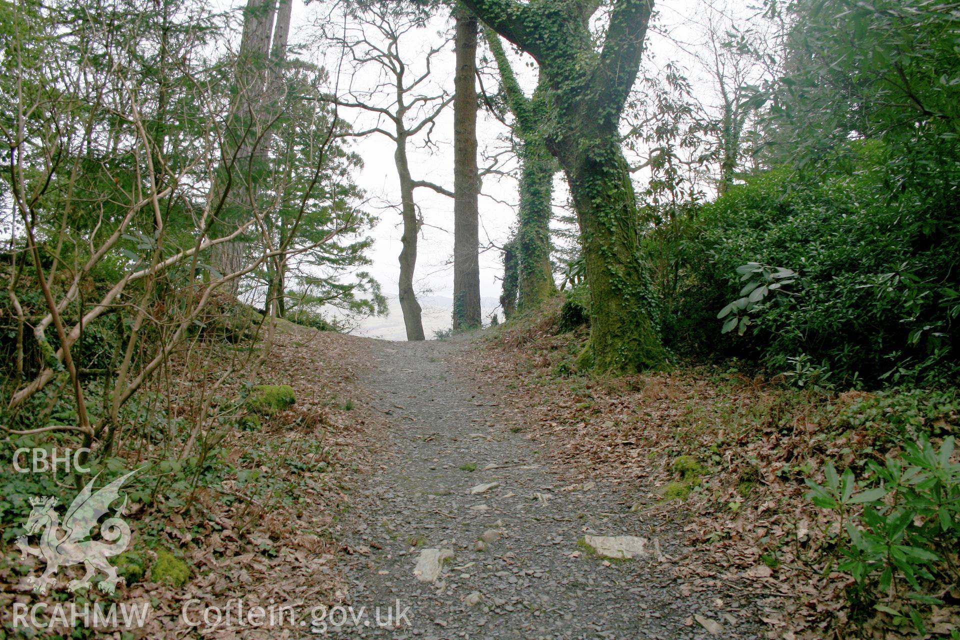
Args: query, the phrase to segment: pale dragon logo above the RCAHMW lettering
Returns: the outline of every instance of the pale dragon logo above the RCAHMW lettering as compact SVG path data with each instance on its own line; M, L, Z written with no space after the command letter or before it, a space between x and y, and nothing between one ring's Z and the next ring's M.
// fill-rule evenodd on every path
M100 533L105 540L109 542L116 540L112 544L86 538L93 533L100 517L108 513L110 504L119 497L120 487L137 471L139 469L120 476L94 493L92 487L97 476L100 475L98 473L74 499L66 511L62 525L60 525L60 515L54 510L57 506L57 498L43 496L30 499L34 509L30 511L30 518L27 520L27 534L33 535L42 531L40 546L31 547L27 544L27 535L18 536L16 546L22 558L26 558L29 554L46 560L47 569L43 575L40 578L31 576L28 579L34 585L36 593L45 594L47 585L57 582L55 576L60 567L81 562L86 567L86 574L81 580L69 581L66 588L70 591L90 588L90 579L97 569L107 574L107 580L97 582L97 586L105 593L112 594L117 582L126 583L126 579L117 576L116 569L107 561L107 558L122 554L130 544L130 527L127 523L119 517L110 517L100 525ZM127 495L124 494L123 504L114 515L124 515L126 507ZM60 529L64 533L59 537Z

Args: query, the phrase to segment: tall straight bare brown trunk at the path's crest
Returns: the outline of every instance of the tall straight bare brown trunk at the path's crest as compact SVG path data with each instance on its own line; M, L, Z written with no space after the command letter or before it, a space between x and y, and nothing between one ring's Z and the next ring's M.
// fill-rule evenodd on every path
M453 78L453 328L478 328L480 318L480 229L477 175L477 19L456 11L456 63Z

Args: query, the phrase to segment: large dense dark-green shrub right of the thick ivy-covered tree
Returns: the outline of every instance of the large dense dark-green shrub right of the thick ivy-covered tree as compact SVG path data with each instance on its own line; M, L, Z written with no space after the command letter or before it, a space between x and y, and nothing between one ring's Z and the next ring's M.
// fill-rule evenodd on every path
M704 205L668 252L677 269L675 290L660 283L668 344L751 356L773 373L805 356L836 385L955 381L956 220L931 220L923 194L895 197L882 151L851 144L856 173L815 180L777 169ZM745 294L749 320L736 325L744 335L731 331L721 342L731 314L718 321L716 313L740 297L749 262L798 275L788 296Z

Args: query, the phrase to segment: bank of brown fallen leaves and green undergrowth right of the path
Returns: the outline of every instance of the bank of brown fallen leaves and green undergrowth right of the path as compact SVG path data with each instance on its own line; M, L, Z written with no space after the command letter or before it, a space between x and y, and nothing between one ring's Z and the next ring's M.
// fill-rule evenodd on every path
M685 500L691 543L790 594L768 604L771 637L952 632L956 390L801 388L735 360L591 377L572 367L587 335L564 332L563 304L500 327L485 358L553 455L635 479L648 514Z

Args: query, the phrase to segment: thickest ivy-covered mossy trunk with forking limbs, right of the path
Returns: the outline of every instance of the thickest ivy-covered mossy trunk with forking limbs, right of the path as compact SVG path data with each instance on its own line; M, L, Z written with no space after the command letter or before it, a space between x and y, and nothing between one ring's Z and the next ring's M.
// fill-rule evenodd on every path
M549 95L545 141L570 184L590 289L590 343L581 362L630 373L665 355L638 250L639 216L620 149L620 114L636 80L653 0L615 0L599 54L590 21L596 0L519 3L463 0L540 64Z

